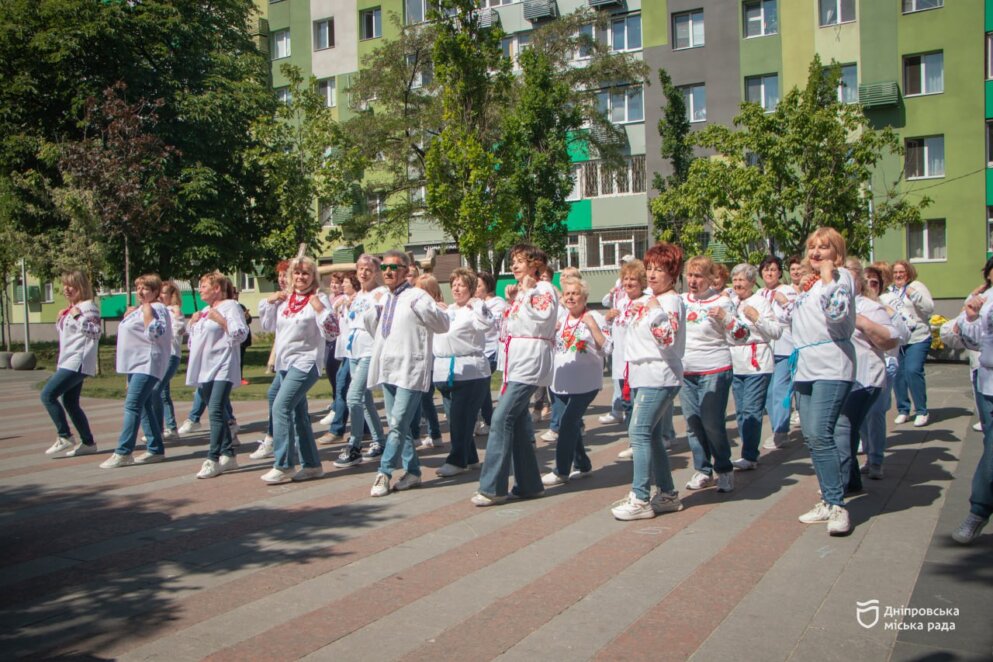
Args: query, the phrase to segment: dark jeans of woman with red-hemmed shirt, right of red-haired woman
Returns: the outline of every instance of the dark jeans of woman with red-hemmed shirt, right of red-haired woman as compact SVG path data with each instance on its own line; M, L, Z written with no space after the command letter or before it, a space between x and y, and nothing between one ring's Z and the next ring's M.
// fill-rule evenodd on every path
M686 419L686 439L693 451L693 467L708 476L714 471L719 474L734 471L724 423L731 376L730 370L683 376L679 399Z

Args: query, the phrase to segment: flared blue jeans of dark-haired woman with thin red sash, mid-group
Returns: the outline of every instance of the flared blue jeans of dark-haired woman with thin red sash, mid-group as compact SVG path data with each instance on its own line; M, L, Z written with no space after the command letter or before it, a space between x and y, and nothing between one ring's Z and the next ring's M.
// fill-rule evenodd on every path
M507 496L510 465L514 464L515 491L519 496L537 496L544 491L541 471L531 444L534 424L528 405L538 387L508 382L507 390L497 400L493 424L486 440L486 459L479 475L479 493L489 497Z

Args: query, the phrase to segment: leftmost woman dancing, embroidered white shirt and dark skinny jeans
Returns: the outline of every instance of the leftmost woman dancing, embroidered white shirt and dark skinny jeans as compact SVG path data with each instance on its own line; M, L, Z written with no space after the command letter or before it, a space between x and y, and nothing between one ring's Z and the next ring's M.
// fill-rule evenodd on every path
M66 457L75 457L97 452L90 423L79 406L79 396L83 391L83 380L97 372L100 309L93 302L93 287L82 271L62 274L62 293L69 307L59 313L55 322L59 334L59 362L55 374L41 391L41 404L55 424L58 438L45 455L65 453ZM79 432L79 442L72 436L67 412Z

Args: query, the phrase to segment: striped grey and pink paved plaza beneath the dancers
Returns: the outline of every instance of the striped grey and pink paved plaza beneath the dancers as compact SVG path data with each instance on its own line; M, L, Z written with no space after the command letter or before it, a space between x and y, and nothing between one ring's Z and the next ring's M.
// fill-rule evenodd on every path
M797 440L763 451L756 471L736 474L731 494L681 489L682 512L615 521L609 507L626 495L631 465L616 458L623 430L596 419L609 392L586 418L591 479L475 508L468 499L478 474L434 475L447 444L422 453L421 488L381 499L369 497L378 463L334 469L338 448L322 449L325 478L267 487L259 476L268 464L249 460L247 443L264 429L263 402L235 403L242 468L217 479L194 478L205 435L167 443L162 464L99 469L121 420L111 401L84 401L100 455L52 460L43 451L54 433L34 388L43 375L0 371L0 651L135 660L990 659L993 532L971 548L949 538L968 510L982 445L970 429L968 369L929 364L927 372L931 424L893 431L885 478L866 481L868 491L850 501L853 533L832 538L823 525L797 521L817 501ZM736 435L733 418L728 425ZM679 416L676 428L682 435ZM538 452L549 465L554 444L539 442ZM682 488L693 472L682 437L672 465ZM866 607L861 617L856 603Z

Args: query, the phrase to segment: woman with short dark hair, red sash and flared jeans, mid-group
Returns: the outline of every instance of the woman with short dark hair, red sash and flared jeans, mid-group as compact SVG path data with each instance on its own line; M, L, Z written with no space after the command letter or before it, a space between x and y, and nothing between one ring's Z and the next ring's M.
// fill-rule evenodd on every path
M517 286L504 313L500 349L504 355L503 392L493 410L479 491L472 497L477 506L492 506L507 499L511 461L516 496L534 497L544 490L531 445L529 431L534 428L528 413L531 394L552 382L558 296L551 283L538 278L545 266L543 256L531 244L510 249Z

